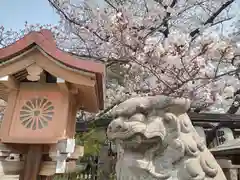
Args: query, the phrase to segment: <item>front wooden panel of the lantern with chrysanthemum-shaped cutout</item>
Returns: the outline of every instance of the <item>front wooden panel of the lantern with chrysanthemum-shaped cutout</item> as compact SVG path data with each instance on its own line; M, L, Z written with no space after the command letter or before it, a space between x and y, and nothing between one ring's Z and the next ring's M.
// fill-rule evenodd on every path
M3 142L56 143L66 136L68 95L57 84L22 83Z

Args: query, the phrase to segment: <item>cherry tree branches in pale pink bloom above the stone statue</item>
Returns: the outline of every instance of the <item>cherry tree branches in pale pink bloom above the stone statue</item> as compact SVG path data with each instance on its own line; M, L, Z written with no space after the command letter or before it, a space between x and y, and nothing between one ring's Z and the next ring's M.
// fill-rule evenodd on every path
M68 32L59 46L106 63L107 106L149 94L188 97L207 111L231 105L240 86L237 47L219 28L233 18L234 0L49 3Z

